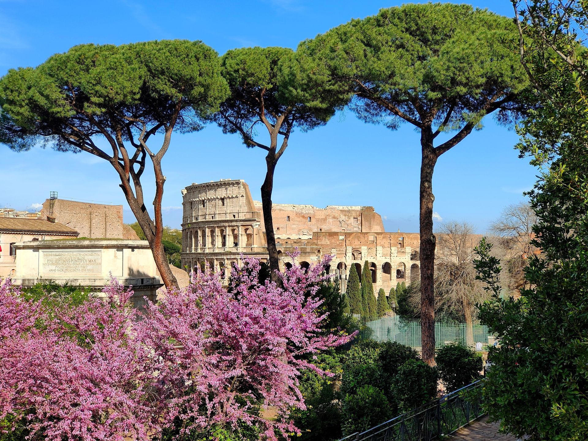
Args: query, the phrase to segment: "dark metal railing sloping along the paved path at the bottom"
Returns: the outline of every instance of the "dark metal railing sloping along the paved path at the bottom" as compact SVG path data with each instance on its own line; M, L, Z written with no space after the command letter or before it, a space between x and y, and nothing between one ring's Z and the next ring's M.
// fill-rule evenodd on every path
M468 391L468 398L463 393ZM473 392L473 393L472 393ZM483 415L482 383L473 382L424 406L339 441L432 441Z

